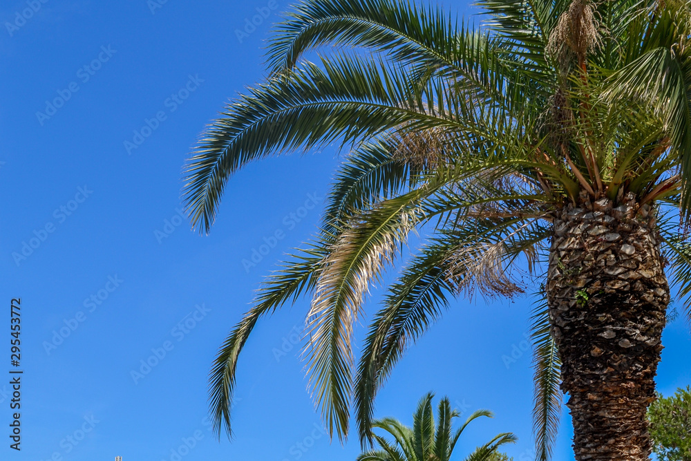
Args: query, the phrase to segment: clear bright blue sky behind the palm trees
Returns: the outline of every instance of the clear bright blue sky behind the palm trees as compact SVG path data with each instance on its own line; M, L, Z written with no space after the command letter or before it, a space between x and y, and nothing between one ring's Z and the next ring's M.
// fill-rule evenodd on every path
M8 447L10 386L0 384L0 459L306 461L359 453L357 440L330 444L319 430L292 341L307 299L263 321L247 342L234 442L213 440L204 421L218 346L263 275L315 231L339 162L325 147L253 164L229 182L210 236L180 218L187 153L223 103L264 75L269 25L289 5L2 2L0 287L7 310L21 297L24 375L19 453ZM463 0L444 6L470 11ZM236 33L258 14L268 17L256 30ZM256 266L243 265L276 232L283 238ZM376 301L377 292L372 308ZM532 371L522 342L529 309L529 299L454 303L401 361L377 415L409 423L432 390L466 414L496 415L471 426L460 454L513 431L520 440L507 451L530 459ZM0 321L4 375L7 311ZM683 321L665 330L664 343L658 382L670 393L691 382ZM281 348L286 355L276 354ZM502 359L512 353L515 361ZM567 417L562 426L555 460L570 460Z

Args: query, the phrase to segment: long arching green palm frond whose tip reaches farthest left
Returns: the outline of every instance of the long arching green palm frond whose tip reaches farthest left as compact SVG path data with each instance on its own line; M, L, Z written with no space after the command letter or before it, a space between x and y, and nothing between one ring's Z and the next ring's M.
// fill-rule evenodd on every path
M209 126L185 169L183 196L194 226L209 231L225 183L248 162L337 138L369 138L410 120L399 104L397 77L383 66L322 64L325 69L305 64L250 88Z

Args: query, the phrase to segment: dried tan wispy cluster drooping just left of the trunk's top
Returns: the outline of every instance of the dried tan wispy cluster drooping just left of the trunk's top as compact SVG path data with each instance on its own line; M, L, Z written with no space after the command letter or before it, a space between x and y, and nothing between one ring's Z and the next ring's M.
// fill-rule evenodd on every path
M446 261L446 279L457 294L472 298L475 290L484 297L508 297L524 293L504 270L504 243L479 243L461 247Z

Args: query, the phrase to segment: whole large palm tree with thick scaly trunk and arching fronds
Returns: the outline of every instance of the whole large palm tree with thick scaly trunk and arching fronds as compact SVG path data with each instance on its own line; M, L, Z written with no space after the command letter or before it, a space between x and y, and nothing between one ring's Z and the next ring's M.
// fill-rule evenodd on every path
M306 0L276 26L266 82L202 135L183 191L200 232L249 162L350 149L321 229L268 276L220 348L210 377L219 434L256 321L303 294L315 403L340 440L352 405L366 446L377 391L451 299L541 286L538 458L549 459L561 389L576 460L648 459L665 265L679 297L691 288L690 4L478 3L486 21L473 28L399 0ZM372 317L356 365L368 289L413 230L425 243Z

